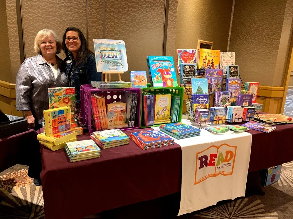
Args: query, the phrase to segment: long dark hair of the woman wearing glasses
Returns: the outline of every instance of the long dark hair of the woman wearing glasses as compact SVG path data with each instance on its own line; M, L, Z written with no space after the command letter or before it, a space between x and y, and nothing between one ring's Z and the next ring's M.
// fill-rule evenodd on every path
M75 27L68 27L68 28L66 28L66 30L63 34L63 38L62 38L62 49L63 49L66 57L68 57L71 54L71 52L67 49L66 44L65 44L66 33L70 30L78 32L78 37L80 38L80 48L79 48L77 56L76 56L76 64L75 64L76 66L79 66L80 64L82 64L86 61L87 54L91 54L93 56L95 56L95 54L92 51L90 51L90 49L88 48L87 40L85 39L85 36L80 31L80 29L75 28Z

